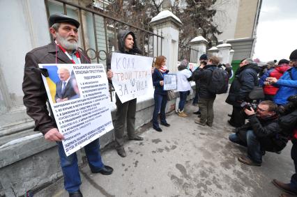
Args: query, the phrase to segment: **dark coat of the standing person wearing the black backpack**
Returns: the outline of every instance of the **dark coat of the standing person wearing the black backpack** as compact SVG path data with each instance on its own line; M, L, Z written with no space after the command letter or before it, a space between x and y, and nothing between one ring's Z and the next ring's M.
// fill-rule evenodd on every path
M204 99L215 99L215 94L208 91L208 84L211 81L211 76L216 65L206 65L204 68L197 68L194 74L194 80L199 79L199 97Z

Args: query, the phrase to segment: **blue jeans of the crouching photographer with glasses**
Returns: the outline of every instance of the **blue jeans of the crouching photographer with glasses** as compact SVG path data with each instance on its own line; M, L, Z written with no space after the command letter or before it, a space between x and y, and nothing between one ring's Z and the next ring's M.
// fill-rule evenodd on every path
M238 143L239 145L246 146L248 148L248 157L252 159L252 161L257 162L259 164L262 163L262 152L261 152L261 144L257 139L257 136L254 135L252 130L248 130L245 133L245 140L240 139L238 134L230 134L229 140Z

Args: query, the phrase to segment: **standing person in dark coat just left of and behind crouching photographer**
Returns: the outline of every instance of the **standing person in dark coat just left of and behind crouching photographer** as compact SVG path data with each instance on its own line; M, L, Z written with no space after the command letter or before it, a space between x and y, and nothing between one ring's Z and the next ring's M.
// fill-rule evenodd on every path
M245 124L245 114L241 109L242 102L251 102L248 100L248 94L254 86L258 86L258 73L261 70L257 63L251 58L245 58L241 61L238 70L236 70L234 81L231 84L229 95L226 102L233 106L231 119L228 123L233 127L241 127Z

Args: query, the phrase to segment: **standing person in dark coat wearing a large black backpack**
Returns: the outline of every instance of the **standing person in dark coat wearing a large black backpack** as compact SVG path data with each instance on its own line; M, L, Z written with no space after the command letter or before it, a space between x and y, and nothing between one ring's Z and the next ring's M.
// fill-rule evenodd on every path
M201 112L201 118L196 119L195 123L202 126L206 124L209 127L213 126L213 102L215 102L216 95L208 91L208 84L211 81L213 70L217 68L218 63L220 63L219 58L211 56L206 65L201 64L197 68L198 70L194 75L195 80L200 80L198 105Z

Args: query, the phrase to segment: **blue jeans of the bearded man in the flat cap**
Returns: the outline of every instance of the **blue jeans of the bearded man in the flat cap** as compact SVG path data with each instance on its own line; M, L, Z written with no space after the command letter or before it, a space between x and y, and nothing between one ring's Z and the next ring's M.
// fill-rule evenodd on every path
M77 155L73 154L66 156L63 144L59 141L57 142L61 168L64 175L64 187L69 193L73 193L79 190L79 185L82 184L79 175L79 169L77 165ZM96 171L104 167L100 155L100 144L99 139L96 139L84 147L86 152L86 158L89 162L89 167L91 170Z

